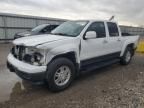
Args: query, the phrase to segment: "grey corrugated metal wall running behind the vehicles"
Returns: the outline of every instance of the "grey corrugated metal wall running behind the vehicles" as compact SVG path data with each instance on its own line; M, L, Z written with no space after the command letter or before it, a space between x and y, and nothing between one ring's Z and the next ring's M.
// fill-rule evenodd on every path
M10 40L15 33L29 30L40 24L61 24L65 19L36 17L28 15L16 15L0 13L0 40ZM120 26L122 32L144 36L144 28Z

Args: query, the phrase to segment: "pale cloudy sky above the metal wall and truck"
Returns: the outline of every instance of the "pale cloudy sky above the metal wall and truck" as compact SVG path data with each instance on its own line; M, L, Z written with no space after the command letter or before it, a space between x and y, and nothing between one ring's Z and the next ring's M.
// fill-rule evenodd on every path
M0 12L62 19L108 20L144 26L144 0L0 0Z

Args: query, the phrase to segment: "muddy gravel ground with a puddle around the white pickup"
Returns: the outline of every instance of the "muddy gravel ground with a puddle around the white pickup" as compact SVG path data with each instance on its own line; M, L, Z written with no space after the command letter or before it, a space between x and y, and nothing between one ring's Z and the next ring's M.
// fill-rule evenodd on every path
M0 108L144 108L144 55L77 78L52 93L46 85L22 81L6 67L10 44L0 45Z

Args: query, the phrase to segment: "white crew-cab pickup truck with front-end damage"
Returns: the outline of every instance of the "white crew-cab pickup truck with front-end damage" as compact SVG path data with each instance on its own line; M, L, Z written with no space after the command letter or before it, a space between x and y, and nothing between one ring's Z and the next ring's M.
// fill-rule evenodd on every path
M139 36L123 37L115 22L68 21L51 34L14 40L7 66L22 79L46 81L51 91L60 91L81 72L129 64L138 40Z

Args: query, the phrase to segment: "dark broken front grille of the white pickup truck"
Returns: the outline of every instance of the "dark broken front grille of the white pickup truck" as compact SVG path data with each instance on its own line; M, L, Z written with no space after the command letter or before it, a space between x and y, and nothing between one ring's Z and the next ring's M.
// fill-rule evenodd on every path
M14 55L15 58L23 60L25 55L25 47L20 45L14 46L11 50L11 53Z

